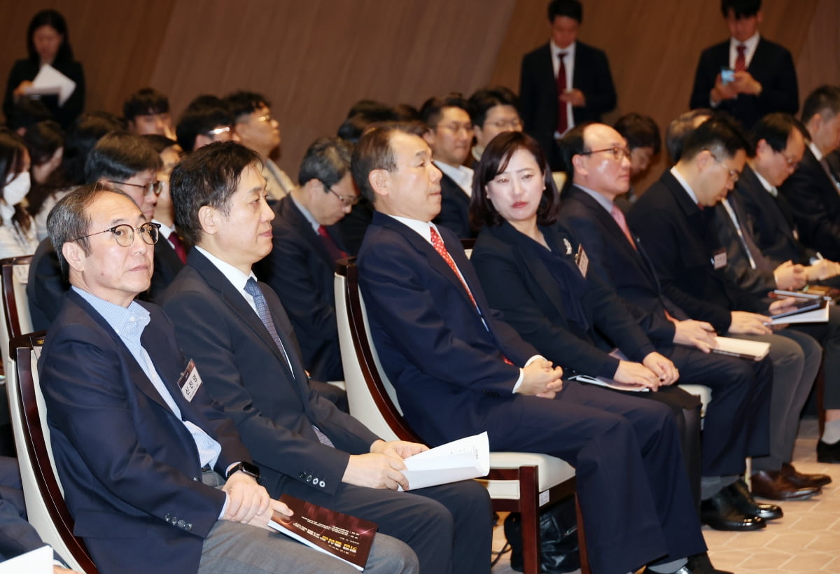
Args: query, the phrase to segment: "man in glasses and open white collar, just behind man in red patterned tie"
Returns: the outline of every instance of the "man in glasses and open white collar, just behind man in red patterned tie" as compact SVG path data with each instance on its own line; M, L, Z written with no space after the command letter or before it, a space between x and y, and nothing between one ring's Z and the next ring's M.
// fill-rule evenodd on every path
M430 97L420 108L420 119L428 127L424 139L432 148L434 165L444 174L440 214L434 223L451 229L461 239L476 234L470 229L469 214L473 171L464 165L473 138L469 110L470 104L459 93Z

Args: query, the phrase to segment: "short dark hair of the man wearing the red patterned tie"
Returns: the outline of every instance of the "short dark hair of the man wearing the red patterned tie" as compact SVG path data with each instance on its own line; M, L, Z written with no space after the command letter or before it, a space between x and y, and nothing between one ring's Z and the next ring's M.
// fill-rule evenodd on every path
M375 203L376 194L370 186L368 176L374 170L394 171L396 157L391 148L391 134L417 135L423 137L428 128L419 122L383 122L372 124L359 139L350 159L350 170L362 197Z

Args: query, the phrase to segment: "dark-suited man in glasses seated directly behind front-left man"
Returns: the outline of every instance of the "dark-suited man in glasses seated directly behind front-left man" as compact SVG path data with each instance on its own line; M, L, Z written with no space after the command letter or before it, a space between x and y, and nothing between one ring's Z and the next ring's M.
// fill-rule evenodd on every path
M109 182L127 193L140 206L150 221L163 183L158 180L160 155L142 136L112 132L93 147L85 164L87 182ZM155 301L176 273L184 266L171 244L160 241L155 249L155 272L151 285L142 296ZM58 258L50 238L41 241L29 266L26 294L34 329L48 329L61 307L64 293L70 287L62 276Z

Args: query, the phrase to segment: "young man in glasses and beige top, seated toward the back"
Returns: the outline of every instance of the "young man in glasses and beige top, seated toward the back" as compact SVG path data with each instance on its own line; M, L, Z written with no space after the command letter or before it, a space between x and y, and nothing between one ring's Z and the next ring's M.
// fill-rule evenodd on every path
M294 182L280 169L271 155L280 155L280 124L271 116L271 103L262 94L234 92L224 98L234 114L234 134L242 145L260 154L265 189L271 199L281 199L291 193Z

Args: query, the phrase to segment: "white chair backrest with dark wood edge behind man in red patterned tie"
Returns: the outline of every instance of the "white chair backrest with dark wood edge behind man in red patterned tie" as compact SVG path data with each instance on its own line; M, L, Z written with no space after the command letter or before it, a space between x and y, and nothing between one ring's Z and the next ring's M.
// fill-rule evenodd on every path
M350 414L384 440L422 442L402 418L396 390L382 370L376 354L365 302L359 292L359 268L355 265L355 258L339 261L334 287Z

